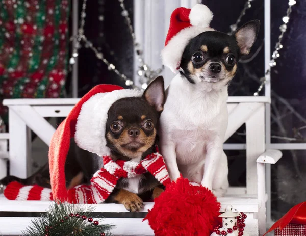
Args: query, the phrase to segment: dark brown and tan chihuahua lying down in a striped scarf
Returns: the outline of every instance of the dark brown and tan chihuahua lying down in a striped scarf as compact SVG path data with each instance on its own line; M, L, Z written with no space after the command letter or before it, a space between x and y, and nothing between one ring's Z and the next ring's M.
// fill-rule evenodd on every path
M114 161L140 162L155 152L156 126L164 103L164 80L159 76L147 87L142 97L122 98L112 104L108 111L106 139ZM79 148L72 139L65 163L67 189L82 183L89 184L93 174L101 167L103 160L99 156ZM7 176L0 183L7 185L11 181L50 188L48 163L27 179ZM143 207L143 201L154 199L162 191L163 186L159 181L146 172L135 178L119 179L106 202L121 203L128 211L136 212Z

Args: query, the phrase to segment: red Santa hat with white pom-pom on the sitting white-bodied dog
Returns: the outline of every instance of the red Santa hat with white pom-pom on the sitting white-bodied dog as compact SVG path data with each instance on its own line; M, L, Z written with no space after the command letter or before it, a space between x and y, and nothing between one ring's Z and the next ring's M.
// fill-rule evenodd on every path
M213 13L203 4L197 4L192 9L176 8L171 14L169 31L161 54L163 65L172 72L177 72L189 41L200 33L214 31L209 28L212 19Z

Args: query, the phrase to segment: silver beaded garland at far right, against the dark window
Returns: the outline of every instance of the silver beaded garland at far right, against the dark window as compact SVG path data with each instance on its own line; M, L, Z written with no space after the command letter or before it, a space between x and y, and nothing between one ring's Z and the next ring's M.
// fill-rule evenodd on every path
M277 43L275 44L275 51L273 51L272 53L272 59L269 63L269 68L267 69L265 75L270 75L271 74L271 68L273 68L274 66L276 66L276 61L281 55L279 54L279 50L281 50L283 48L283 45L282 45L282 39L284 37L284 34L286 33L288 27L287 27L287 23L289 22L290 20L290 14L292 12L292 6L294 6L296 4L296 1L295 0L289 0L288 2L288 5L289 7L287 8L287 11L286 11L286 16L284 16L282 18L284 24L282 24L280 27L279 27L279 30L281 31L281 34L278 36L278 41ZM257 92L254 93L254 96L258 96L259 93L262 91L264 85L268 82L267 81L267 78L266 77L262 77L261 80L260 80L261 84L260 86L258 87L257 89Z

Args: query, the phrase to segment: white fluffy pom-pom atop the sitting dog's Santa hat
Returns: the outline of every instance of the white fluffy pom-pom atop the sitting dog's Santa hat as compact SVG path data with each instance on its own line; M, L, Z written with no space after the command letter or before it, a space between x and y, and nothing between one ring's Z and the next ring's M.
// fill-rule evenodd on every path
M189 14L189 20L192 25L209 27L210 22L213 19L213 13L204 4L197 4L191 8Z

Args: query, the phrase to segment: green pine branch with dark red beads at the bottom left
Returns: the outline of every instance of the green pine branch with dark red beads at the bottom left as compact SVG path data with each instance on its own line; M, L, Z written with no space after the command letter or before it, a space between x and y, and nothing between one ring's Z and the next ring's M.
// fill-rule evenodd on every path
M113 225L101 224L100 218L97 225L96 221L89 219L93 218L94 208L54 203L41 217L34 218L22 233L25 236L111 236ZM86 216L86 219L82 216Z

